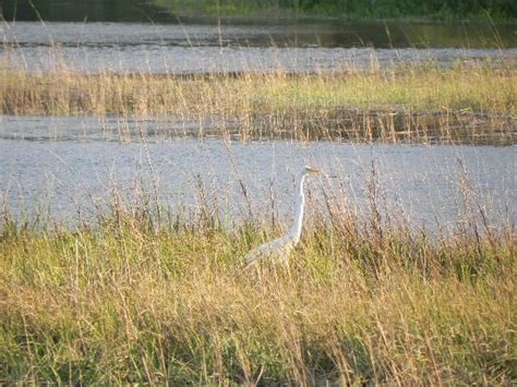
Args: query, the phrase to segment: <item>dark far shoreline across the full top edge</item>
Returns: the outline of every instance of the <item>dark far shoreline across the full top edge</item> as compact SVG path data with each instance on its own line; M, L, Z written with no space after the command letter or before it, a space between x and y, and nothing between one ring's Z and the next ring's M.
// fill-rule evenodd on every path
M5 20L166 21L178 15L515 21L515 0L3 0Z

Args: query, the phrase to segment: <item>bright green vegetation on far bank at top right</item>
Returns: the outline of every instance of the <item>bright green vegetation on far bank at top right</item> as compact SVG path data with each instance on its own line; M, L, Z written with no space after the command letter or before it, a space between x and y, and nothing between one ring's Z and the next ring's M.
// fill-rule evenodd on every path
M436 19L515 20L517 5L512 0L156 0L178 15L247 16L340 16L345 19Z

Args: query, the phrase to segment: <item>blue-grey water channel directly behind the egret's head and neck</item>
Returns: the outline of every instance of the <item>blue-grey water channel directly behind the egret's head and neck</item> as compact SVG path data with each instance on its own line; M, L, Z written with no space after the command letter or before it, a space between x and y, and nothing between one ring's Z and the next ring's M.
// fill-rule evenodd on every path
M70 128L79 126L80 120L67 120ZM40 125L47 129L49 123ZM33 217L39 208L55 220L73 223L94 216L96 205L105 208L113 190L134 198L142 191L154 195L156 185L160 203L173 211L184 208L189 216L195 216L200 193L205 191L209 206L227 219L239 220L250 210L241 180L254 218L285 222L290 219L293 179L304 164L336 177L310 180L308 221L325 210L321 205L324 195L348 201L354 210L366 208L372 165L385 216L431 229L455 226L466 219L464 193L469 192L476 216L479 203L491 226L517 220L513 146L229 143L153 136L124 145L99 136L61 141L3 137L0 192L16 217L23 211Z

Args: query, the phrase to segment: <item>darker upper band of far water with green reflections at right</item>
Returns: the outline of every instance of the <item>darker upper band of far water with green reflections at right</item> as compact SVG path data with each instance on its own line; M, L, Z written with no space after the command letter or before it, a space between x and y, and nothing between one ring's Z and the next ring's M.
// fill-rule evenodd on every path
M326 22L287 25L3 23L4 41L20 45L184 47L515 48L517 25Z

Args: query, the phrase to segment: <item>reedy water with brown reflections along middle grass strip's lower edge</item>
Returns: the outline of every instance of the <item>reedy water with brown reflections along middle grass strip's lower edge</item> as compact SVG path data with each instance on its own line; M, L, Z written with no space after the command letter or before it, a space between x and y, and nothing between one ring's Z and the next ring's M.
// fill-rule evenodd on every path
M353 141L385 144L514 145L515 119L473 112L389 112L328 109L322 114L273 117L256 113L237 122L211 116L15 117L0 116L0 138L17 141L107 141L147 143L178 137L239 141Z

